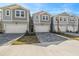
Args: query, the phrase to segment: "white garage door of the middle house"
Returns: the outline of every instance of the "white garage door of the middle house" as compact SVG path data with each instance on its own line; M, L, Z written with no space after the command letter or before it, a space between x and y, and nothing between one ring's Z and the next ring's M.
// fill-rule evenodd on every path
M35 29L35 32L49 32L50 26L49 25L35 25L34 29Z

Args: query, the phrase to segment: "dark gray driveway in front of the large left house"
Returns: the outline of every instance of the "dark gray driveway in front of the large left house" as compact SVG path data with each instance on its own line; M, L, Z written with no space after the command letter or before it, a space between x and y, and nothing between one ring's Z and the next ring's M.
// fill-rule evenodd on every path
M9 41L16 39L23 34L0 34L0 46L8 43Z

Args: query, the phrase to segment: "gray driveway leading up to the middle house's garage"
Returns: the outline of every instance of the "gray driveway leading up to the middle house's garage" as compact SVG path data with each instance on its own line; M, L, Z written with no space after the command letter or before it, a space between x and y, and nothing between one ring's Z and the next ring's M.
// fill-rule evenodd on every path
M40 43L38 45L42 46L48 46L50 44L60 44L61 42L64 42L67 40L66 38L57 36L53 33L36 33L37 38L39 39Z

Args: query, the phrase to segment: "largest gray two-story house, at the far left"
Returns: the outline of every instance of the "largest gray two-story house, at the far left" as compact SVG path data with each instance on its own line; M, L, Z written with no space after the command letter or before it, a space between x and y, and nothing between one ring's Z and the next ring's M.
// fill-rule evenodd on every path
M29 31L30 11L18 4L0 8L0 32L25 33Z

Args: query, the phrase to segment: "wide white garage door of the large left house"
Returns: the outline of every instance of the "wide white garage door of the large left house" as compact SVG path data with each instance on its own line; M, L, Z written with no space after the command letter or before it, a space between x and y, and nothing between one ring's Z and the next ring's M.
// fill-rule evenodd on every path
M25 33L27 24L6 24L5 33Z

